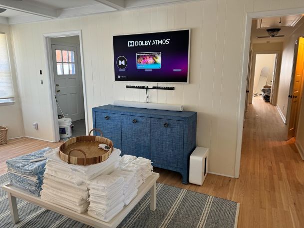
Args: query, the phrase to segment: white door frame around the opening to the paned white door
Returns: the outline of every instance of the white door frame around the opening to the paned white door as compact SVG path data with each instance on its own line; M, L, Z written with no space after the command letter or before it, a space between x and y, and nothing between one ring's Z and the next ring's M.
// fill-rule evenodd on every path
M85 117L85 131L88 134L88 110L87 110L87 96L86 96L86 86L85 86L85 75L84 75L84 62L83 62L83 48L82 48L82 33L81 30L74 31L62 31L62 32L52 32L43 34L43 43L45 47L45 60L46 60L46 73L48 74L48 83L50 86L49 99L51 100L51 111L53 113L53 123L52 123L52 135L53 141L58 142L60 140L60 135L58 131L58 116L57 116L57 103L55 98L55 84L54 82L54 69L53 69L53 58L52 58L52 47L51 38L65 37L65 36L79 36L79 49L80 49L80 64L81 64L81 76L82 76L82 89L83 89L83 103L84 103L84 117Z

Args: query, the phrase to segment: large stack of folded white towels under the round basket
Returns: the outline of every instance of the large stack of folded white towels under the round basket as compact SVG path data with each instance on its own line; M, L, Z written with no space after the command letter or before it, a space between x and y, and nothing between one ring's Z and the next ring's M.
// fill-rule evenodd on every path
M48 161L41 199L83 213L89 206L87 183L99 175L112 173L121 159L120 150L113 149L106 161L90 166L67 164L59 158L58 151L57 148L44 155Z

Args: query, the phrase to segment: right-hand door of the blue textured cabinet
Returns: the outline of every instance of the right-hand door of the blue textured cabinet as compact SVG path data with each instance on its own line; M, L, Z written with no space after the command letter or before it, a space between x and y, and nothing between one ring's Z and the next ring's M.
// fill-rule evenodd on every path
M183 168L184 121L151 118L151 160Z

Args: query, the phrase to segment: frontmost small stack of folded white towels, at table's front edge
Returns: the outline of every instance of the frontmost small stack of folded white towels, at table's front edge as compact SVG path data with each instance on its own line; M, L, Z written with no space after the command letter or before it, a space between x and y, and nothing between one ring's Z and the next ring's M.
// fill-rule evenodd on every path
M124 178L115 175L101 175L87 184L89 188L88 215L109 222L124 206Z

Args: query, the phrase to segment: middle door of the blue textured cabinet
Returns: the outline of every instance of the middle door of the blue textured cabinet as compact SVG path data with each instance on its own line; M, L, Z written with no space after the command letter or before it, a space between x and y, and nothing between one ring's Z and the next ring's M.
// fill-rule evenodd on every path
M150 159L150 118L121 115L122 153Z

